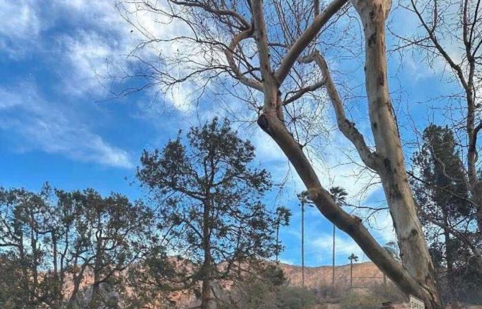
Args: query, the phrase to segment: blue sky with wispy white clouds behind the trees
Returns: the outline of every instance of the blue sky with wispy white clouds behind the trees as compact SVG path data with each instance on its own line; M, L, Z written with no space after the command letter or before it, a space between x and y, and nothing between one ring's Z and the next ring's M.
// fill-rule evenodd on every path
M207 102L202 102L200 113L196 113L186 103L186 89L175 89L163 98L146 91L107 100L110 96L99 76L104 76L107 68L116 73L131 64L126 55L138 40L136 31L123 21L112 2L0 0L1 186L39 190L49 181L65 190L94 187L103 194L114 191L139 198L142 192L129 183L140 152L162 147L179 128L222 115ZM404 16L404 25L412 21ZM392 27L402 28L396 23ZM163 35L174 30L153 31ZM436 63L435 70L429 69L410 57L402 62L397 55L390 58L390 85L401 99L401 123L408 124L406 113L417 126L427 123L430 103L417 102L427 102L451 89L443 82L440 68ZM349 78L354 83L363 82L360 71ZM363 124L366 105L363 101L357 104L361 105L353 106L353 117L368 136ZM333 117L331 111L328 113ZM408 127L402 128L402 133L404 140L412 138ZM289 174L286 159L264 133L242 127L242 134L257 146L258 163L270 170L276 181ZM342 185L355 196L369 175L353 177L357 168L338 154L340 148L348 151L350 146L337 134L331 139L333 143L323 150L325 160L317 163L322 182ZM410 151L407 148L408 154ZM300 206L295 196L300 190L300 180L289 174L284 191L266 198L271 207L284 204L293 211L292 225L281 233L286 245L282 260L293 264L300 264ZM376 185L359 196L357 201L367 205L383 200ZM388 216L380 214L376 219L371 222L379 228L373 229L375 238L381 243L392 240ZM337 231L337 243L337 264L345 264L352 252L366 260L341 231ZM308 207L306 264L330 263L331 223Z

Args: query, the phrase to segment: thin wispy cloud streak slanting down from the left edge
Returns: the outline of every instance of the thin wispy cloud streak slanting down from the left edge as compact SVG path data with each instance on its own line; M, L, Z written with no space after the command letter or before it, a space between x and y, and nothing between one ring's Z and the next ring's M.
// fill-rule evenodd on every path
M70 159L132 168L129 153L92 133L74 111L46 102L31 84L0 89L0 128L20 135L20 151L42 150Z

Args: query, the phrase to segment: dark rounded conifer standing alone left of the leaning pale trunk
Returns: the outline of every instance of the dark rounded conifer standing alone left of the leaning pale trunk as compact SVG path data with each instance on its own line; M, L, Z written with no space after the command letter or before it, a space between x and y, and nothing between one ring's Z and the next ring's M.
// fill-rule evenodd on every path
M260 201L272 183L266 170L251 167L254 147L229 121L214 118L186 137L145 151L137 176L158 201L172 249L187 257L187 272L171 282L195 291L201 283L201 307L207 309L213 280L235 279L236 267L278 252L276 216Z

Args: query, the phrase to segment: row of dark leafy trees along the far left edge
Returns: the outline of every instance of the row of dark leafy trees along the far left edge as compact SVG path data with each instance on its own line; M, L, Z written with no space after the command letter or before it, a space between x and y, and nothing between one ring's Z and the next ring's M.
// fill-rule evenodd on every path
M112 301L101 290L151 248L152 218L121 194L0 189L0 307L75 308L85 280L89 306Z

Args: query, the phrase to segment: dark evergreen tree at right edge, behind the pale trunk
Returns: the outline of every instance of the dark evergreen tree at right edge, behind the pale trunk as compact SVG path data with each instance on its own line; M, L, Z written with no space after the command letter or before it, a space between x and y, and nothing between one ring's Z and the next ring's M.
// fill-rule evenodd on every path
M474 296L482 286L482 272L474 260L482 240L452 130L428 126L412 162L412 189L443 294L451 299Z

